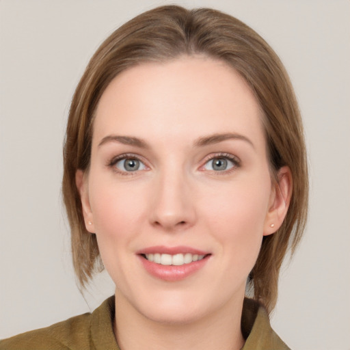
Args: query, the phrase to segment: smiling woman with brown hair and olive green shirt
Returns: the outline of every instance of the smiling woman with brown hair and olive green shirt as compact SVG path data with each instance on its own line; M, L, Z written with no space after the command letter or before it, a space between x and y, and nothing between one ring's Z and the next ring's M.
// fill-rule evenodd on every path
M72 100L63 193L81 286L103 266L115 296L0 349L288 349L268 314L304 230L306 152L252 29L165 6L112 33Z

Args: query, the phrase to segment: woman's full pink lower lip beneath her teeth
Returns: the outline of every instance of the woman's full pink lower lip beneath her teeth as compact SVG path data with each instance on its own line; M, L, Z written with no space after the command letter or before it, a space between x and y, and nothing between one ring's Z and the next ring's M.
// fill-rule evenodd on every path
M144 265L144 268L150 275L159 278L161 280L176 282L184 280L185 278L193 275L198 270L202 269L206 262L208 261L209 256L205 256L202 260L197 260L190 262L189 264L184 264L180 266L176 265L161 265L156 262L152 262L139 255L139 258Z

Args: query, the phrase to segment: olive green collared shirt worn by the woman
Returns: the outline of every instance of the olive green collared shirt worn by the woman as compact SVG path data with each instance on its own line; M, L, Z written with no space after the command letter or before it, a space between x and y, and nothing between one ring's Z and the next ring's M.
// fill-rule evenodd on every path
M92 313L0 340L0 350L120 350L114 314L114 297L109 297ZM243 304L241 329L246 340L242 350L289 349L273 332L265 309L250 299Z

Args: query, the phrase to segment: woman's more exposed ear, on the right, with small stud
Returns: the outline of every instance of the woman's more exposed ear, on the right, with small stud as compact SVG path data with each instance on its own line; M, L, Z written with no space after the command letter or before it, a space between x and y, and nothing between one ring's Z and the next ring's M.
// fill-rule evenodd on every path
M289 167L281 167L277 174L277 181L273 181L269 210L264 224L264 236L273 234L283 224L284 217L291 202L293 179Z

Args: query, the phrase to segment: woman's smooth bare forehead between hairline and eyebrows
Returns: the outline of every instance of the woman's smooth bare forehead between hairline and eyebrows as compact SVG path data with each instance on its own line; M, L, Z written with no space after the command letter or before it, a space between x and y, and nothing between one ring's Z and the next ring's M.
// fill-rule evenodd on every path
M246 81L224 62L181 57L133 66L100 98L94 142L110 133L193 139L239 132L261 138L262 113Z

